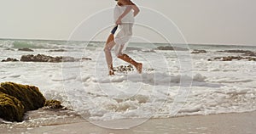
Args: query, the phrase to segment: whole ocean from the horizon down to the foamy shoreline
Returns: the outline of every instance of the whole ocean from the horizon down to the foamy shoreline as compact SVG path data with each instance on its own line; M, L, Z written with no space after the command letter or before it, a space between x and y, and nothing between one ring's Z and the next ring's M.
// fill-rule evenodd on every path
M104 42L2 39L0 60L20 59L26 54L92 60L64 63L1 62L0 82L13 81L37 86L45 98L60 100L67 109L72 109L73 114L79 114L91 122L124 119L143 119L143 122L149 118L256 110L256 62L208 61L222 56L241 56L241 53L218 51L256 52L255 46L175 44L175 47L188 49L156 49L161 46L170 44L131 42L125 53L143 63L143 73L137 74L136 70L131 70L108 76L102 51ZM18 51L24 47L31 48L33 52ZM59 49L65 51L49 51ZM192 54L195 49L206 50L207 53ZM113 66L120 65L129 64L113 58ZM64 118L65 115L59 116ZM37 120L25 120L24 124L36 124L46 119L38 117ZM54 119L51 116L49 120Z

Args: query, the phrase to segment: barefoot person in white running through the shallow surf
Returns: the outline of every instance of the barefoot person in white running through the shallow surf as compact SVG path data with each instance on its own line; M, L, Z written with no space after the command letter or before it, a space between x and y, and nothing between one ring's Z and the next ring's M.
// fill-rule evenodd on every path
M108 38L108 42L104 48L106 60L108 64L109 75L114 75L113 73L113 59L111 55L111 49L115 46L115 55L119 59L123 59L134 65L138 73L142 73L143 64L137 63L135 60L131 59L127 54L123 53L125 45L130 41L132 36L132 26L134 23L134 17L139 13L139 8L136 4L132 3L130 0L115 0L117 5L114 8L114 21L116 25L119 25L119 33L117 36Z

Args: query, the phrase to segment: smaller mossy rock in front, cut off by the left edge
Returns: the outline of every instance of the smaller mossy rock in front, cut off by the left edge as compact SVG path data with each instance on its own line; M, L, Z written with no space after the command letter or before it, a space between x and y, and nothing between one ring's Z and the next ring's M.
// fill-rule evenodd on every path
M2 87L0 87L1 90ZM17 98L0 92L0 118L9 121L22 121L24 106Z

